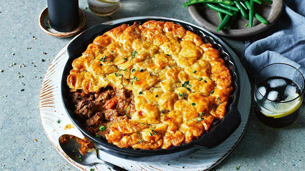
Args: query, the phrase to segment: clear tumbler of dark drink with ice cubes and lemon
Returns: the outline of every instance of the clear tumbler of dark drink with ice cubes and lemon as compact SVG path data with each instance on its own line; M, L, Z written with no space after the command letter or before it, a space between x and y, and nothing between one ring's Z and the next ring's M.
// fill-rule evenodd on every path
M265 125L283 128L298 117L304 97L304 77L288 64L270 64L256 76L254 111Z

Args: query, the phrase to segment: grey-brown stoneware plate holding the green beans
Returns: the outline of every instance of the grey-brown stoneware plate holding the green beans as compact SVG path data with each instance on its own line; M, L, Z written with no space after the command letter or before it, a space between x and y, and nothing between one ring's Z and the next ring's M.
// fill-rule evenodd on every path
M217 32L217 26L220 24L217 12L208 8L202 3L190 5L188 11L192 18L203 28L217 35L226 37L245 37L260 33L272 26L280 17L283 9L283 0L272 0L273 3L262 2L261 5L254 3L255 12L268 21L268 24L262 24L256 18L253 19L253 27L245 26L248 20L238 14L236 20L229 29L222 29ZM203 8L203 9L202 9ZM240 12L238 12L240 13Z

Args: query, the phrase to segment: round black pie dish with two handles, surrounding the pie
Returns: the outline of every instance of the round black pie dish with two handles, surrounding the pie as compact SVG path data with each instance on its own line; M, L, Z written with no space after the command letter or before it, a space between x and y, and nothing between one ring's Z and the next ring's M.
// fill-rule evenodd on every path
M72 69L72 62L74 59L80 57L82 53L87 49L87 46L93 42L97 36L103 35L106 31L109 31L122 24L133 25L134 22L144 23L146 21L169 21L175 24L183 26L186 30L192 31L193 33L200 36L204 43L211 43L213 47L220 51L221 58L224 60L227 68L230 70L232 77L232 87L233 91L231 93L231 98L228 99L227 104L227 114L223 117L222 121L214 122L210 130L206 134L202 135L197 140L192 140L191 142L179 146L174 146L170 149L158 149L158 150L135 150L132 148L119 148L116 145L105 143L102 139L96 138L91 135L87 130L83 129L80 123L73 117L73 111L71 111L71 106L68 101L69 86L67 84L67 77L70 70ZM165 20L165 19L138 19L130 20L114 25L99 24L89 28L88 30L81 33L76 37L67 48L69 59L64 67L62 81L61 81L61 95L63 100L63 105L68 113L68 116L74 123L74 125L83 133L83 135L98 149L112 154L114 156L133 160L140 162L159 162L168 161L173 159L178 159L186 155L192 154L200 149L214 148L226 140L239 126L241 122L241 116L237 109L237 103L240 93L240 80L237 65L235 64L232 56L229 54L228 50L213 36L207 32L201 30L198 27L188 25L183 22Z

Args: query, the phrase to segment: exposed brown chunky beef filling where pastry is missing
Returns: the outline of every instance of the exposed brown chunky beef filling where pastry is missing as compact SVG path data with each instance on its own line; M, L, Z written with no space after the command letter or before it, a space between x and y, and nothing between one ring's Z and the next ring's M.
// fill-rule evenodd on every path
M70 93L75 118L82 127L93 136L100 135L105 142L105 134L109 133L108 126L131 118L136 111L133 93L124 88L106 87L98 93L86 94L83 90ZM99 128L105 126L101 131Z

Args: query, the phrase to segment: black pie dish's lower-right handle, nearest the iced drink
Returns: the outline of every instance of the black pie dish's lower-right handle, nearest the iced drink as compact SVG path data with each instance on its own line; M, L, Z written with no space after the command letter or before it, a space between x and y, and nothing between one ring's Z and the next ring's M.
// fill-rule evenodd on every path
M223 117L222 122L215 126L213 131L203 135L200 138L204 139L204 141L202 141L202 143L194 144L194 147L199 149L211 149L218 146L227 138L229 138L229 136L238 128L240 123L240 113L237 107L232 107L230 112Z

